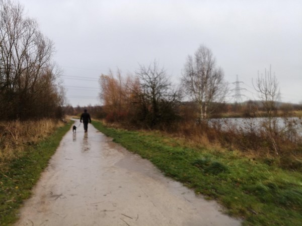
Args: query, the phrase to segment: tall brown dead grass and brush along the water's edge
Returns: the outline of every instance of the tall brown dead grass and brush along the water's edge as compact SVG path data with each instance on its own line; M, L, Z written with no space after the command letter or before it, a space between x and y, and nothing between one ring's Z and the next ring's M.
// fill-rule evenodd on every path
M268 159L286 169L302 170L302 138L293 124L297 125L291 122L291 125L286 125L285 131L277 133L275 130L271 133L273 139L266 130L249 121L242 127L224 121L211 126L186 122L177 125L170 134L208 149L236 151L243 156ZM278 148L277 154L274 145Z

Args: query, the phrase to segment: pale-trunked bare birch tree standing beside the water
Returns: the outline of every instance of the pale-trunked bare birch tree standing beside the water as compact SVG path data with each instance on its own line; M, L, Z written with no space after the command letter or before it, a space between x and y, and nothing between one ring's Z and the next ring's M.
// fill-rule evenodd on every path
M207 119L214 110L213 103L222 102L228 92L222 69L216 66L212 51L203 45L198 48L194 57L188 56L182 84L198 106L199 121Z

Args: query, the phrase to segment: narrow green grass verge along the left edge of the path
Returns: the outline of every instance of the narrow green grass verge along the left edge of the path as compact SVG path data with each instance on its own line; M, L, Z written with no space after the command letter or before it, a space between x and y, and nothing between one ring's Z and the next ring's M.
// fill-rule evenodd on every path
M32 187L71 124L58 128L39 144L27 146L24 155L9 164L9 170L0 171L0 225L11 225L18 219L18 209L30 197Z

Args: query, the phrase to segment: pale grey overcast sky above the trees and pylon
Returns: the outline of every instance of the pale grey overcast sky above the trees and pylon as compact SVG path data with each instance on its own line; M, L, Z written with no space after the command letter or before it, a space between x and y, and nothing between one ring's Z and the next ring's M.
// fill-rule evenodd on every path
M20 0L55 44L73 106L100 104L98 78L134 74L155 59L179 83L188 55L210 48L230 88L257 99L252 79L272 71L281 100L302 101L302 1ZM82 78L82 80L79 80ZM84 87L84 88L83 88ZM230 96L235 93L231 93Z

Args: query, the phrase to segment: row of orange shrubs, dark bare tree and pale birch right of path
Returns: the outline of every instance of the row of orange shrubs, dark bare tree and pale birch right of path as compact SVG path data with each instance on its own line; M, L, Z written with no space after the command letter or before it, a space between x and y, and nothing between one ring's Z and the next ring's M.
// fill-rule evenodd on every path
M139 65L132 76L122 77L120 71L102 74L100 98L106 120L136 128L173 129L180 121L210 118L228 91L222 69L205 46L188 56L181 81L181 86L173 85L156 61Z

